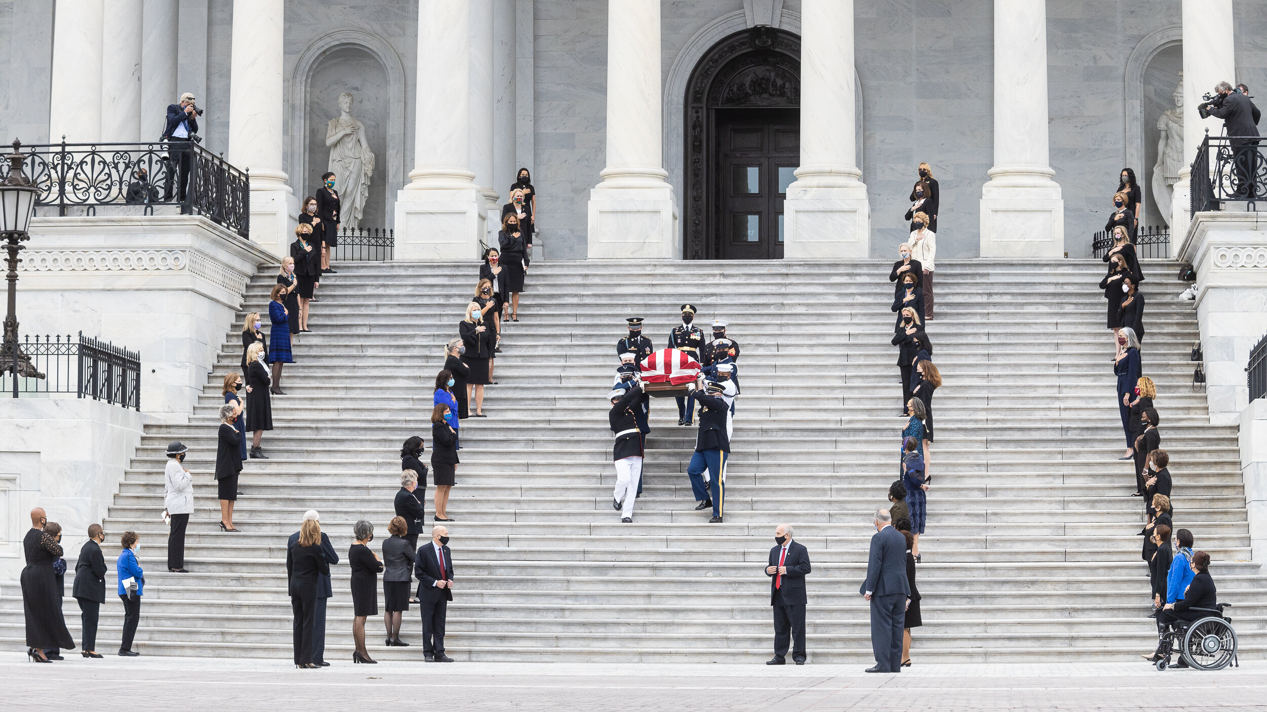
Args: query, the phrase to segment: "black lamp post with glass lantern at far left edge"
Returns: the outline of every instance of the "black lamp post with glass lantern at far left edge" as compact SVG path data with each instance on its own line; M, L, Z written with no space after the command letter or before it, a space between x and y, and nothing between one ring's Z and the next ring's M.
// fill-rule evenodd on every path
M22 163L27 160L22 155L22 142L13 141L13 153L8 156L9 176L0 181L0 239L4 239L4 248L9 252L5 262L9 264L9 312L4 318L4 347L0 350L0 375L5 371L13 372L13 397L18 398L18 376L42 379L30 362L30 359L22 352L18 345L18 252L25 250L22 245L30 239L28 228L30 215L35 209L35 195L39 193L30 179L22 171Z

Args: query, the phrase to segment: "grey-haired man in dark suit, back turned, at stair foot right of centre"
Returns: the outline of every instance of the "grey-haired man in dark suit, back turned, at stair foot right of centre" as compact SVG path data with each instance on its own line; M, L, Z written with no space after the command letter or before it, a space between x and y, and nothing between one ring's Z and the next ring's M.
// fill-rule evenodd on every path
M875 511L875 533L867 559L867 580L858 593L870 602L872 652L868 673L902 671L902 626L911 584L906 579L906 537L892 527L888 509Z

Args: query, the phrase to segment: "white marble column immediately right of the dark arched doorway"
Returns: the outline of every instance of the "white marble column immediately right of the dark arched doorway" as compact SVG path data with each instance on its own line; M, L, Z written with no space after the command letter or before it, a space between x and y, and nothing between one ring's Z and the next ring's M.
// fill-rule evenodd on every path
M802 9L801 166L783 203L783 255L865 260L870 207L854 133L854 0Z

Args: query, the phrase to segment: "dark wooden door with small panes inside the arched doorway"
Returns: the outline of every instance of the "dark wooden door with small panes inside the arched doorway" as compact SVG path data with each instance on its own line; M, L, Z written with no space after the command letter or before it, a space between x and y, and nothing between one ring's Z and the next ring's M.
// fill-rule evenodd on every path
M722 260L783 258L783 199L801 163L798 109L718 109L717 181Z

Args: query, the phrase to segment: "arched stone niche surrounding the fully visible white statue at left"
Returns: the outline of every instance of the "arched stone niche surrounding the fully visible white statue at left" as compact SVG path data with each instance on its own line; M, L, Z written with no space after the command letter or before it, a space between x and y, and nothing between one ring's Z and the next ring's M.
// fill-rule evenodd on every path
M321 175L329 165L326 129L331 119L338 117L338 95L345 91L352 92L352 117L365 124L365 134L375 158L370 198L360 227L385 228L390 219L386 209L386 179L389 96L393 87L383 63L366 49L337 47L324 52L314 65L308 80L308 105L304 108L308 118L304 142L308 170L305 175L293 180L303 186L303 195L312 195L321 186ZM343 188L342 181L334 186L340 191Z

